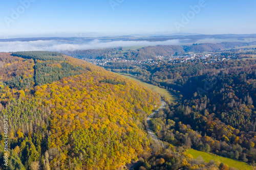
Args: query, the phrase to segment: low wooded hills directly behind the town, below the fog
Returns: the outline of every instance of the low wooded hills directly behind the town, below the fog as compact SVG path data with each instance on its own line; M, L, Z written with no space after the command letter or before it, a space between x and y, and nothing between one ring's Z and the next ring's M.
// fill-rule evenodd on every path
M234 48L247 45L255 45L253 42L221 42L221 43L201 43L193 45L156 45L138 48L137 50L123 51L122 47L101 49L101 50L77 50L73 52L63 52L75 58L82 59L106 59L112 57L124 58L127 60L154 59L156 56L171 57L183 55L189 52L216 52L226 48Z

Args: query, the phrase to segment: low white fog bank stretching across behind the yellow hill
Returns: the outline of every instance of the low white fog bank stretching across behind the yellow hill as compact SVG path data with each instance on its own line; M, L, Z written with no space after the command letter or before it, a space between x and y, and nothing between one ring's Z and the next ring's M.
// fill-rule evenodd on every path
M7 41L0 42L0 52L18 52L18 51L75 51L75 50L89 50L96 48L113 48L113 47L127 47L137 45L181 45L180 40L167 41L111 41L103 42L101 40L92 40L87 43L63 42L57 40L38 40L38 41Z

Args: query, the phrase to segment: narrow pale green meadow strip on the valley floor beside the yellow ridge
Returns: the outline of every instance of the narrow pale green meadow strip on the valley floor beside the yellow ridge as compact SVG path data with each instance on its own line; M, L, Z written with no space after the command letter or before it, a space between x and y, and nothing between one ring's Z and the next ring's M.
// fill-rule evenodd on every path
M156 91L160 95L164 95L166 98L168 98L172 102L175 102L175 100L177 99L177 97L175 95L171 94L168 90L166 90L164 88L160 88L160 87L155 86L153 84L148 84L148 83L142 82L141 80L133 78L133 77L131 77L129 75L123 75L123 74L118 74L118 75L121 75L121 76L123 76L125 78L131 79L131 80L134 80L134 81L137 81L137 82L141 83L142 85L144 85L144 86L146 86L146 87Z

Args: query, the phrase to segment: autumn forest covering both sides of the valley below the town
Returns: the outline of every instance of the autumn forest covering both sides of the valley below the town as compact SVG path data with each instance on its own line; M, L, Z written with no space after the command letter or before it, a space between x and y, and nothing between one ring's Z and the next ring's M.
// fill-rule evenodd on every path
M87 51L93 57L105 52L112 53ZM238 59L124 67L113 62L102 68L56 52L0 53L0 123L7 116L9 124L9 166L7 132L0 126L0 169L252 169L255 65ZM165 108L147 124L161 99Z

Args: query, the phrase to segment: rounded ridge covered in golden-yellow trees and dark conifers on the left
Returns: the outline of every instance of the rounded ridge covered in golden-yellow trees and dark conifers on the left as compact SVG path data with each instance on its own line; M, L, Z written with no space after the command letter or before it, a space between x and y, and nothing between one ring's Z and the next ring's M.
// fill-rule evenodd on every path
M150 152L146 117L160 96L103 68L51 52L0 54L3 169L117 169ZM4 127L0 127L3 143Z

